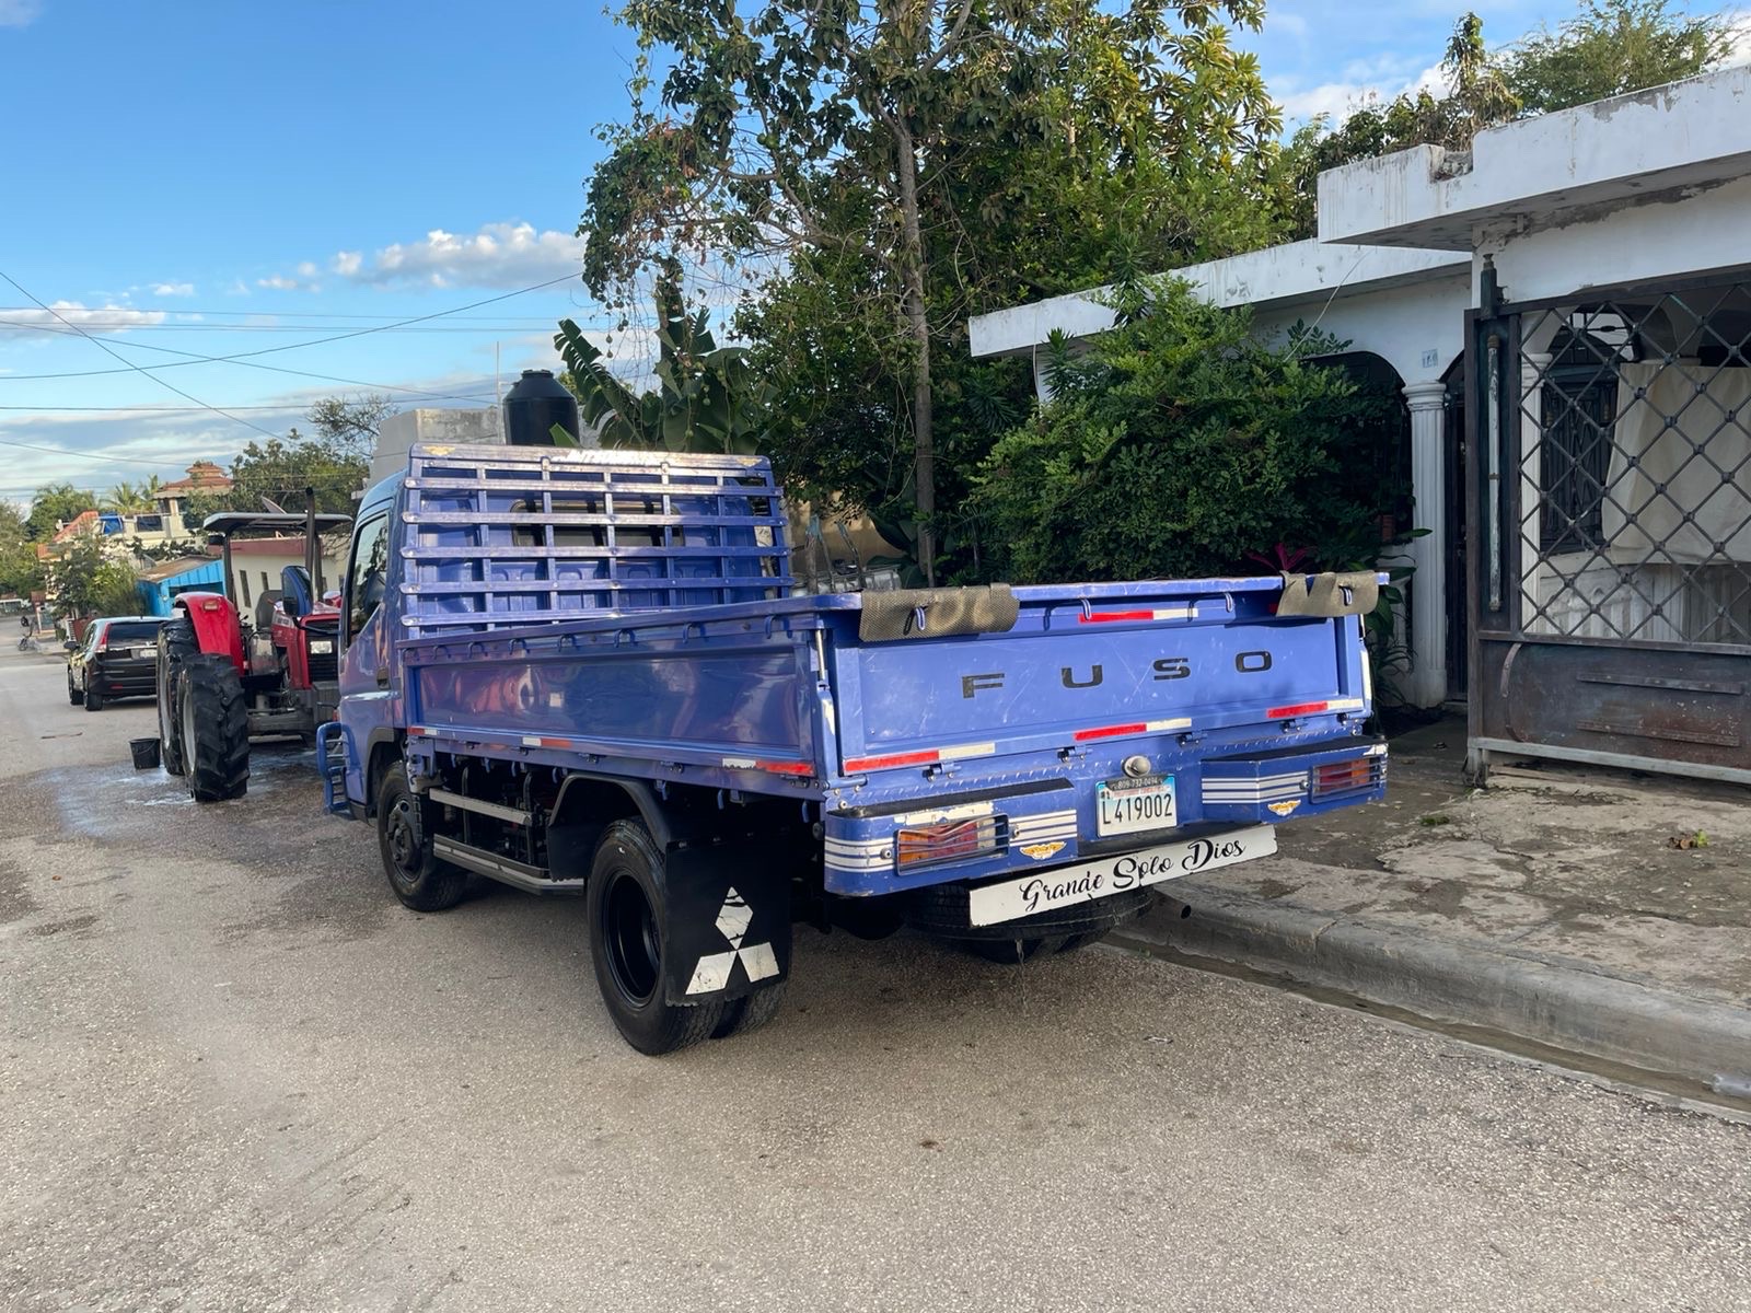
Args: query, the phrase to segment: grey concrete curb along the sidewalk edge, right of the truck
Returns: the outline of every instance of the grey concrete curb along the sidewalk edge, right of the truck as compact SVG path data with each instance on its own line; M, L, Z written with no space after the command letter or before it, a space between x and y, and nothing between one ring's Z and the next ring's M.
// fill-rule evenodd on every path
M1333 917L1175 882L1108 944L1213 959L1294 984L1476 1026L1546 1049L1751 1098L1751 1008L1690 998L1590 963Z

